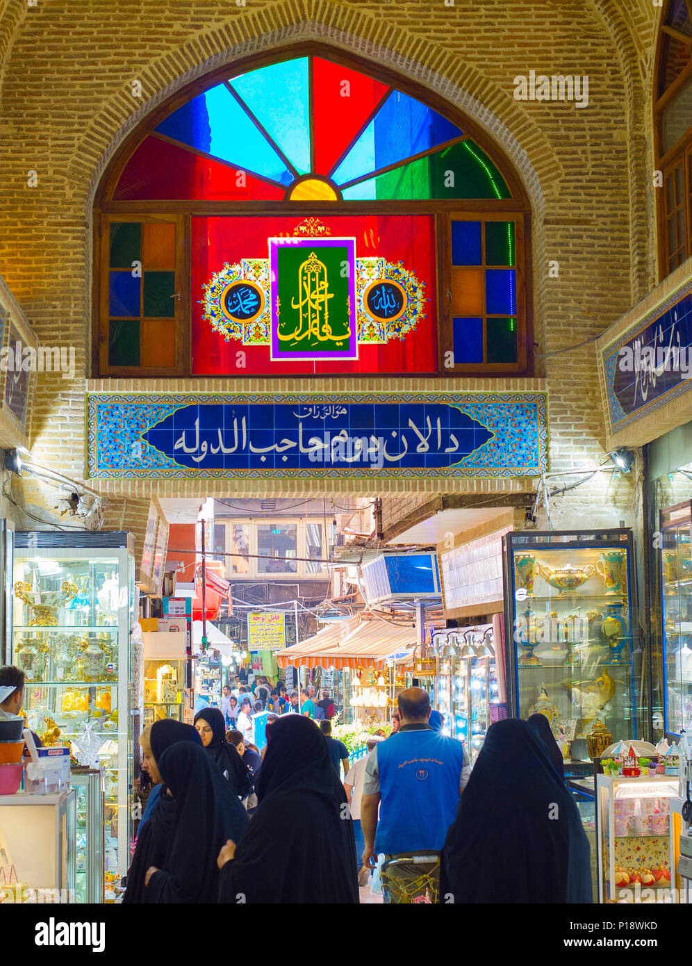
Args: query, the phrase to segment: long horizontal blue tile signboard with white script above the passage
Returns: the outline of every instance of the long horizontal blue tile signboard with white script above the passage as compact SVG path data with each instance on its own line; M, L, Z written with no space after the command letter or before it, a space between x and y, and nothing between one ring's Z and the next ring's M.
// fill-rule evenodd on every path
M536 476L547 397L525 393L89 393L99 479Z

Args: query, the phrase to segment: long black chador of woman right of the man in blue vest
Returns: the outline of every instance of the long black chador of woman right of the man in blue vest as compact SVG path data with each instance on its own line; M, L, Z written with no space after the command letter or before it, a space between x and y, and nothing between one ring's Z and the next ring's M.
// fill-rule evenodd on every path
M442 852L440 901L591 902L576 806L526 722L490 725Z

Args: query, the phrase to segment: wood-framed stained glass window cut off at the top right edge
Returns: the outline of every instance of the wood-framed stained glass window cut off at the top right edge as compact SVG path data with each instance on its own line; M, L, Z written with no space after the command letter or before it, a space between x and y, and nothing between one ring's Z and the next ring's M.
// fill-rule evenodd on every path
M669 0L654 86L658 266L664 278L692 255L692 0Z

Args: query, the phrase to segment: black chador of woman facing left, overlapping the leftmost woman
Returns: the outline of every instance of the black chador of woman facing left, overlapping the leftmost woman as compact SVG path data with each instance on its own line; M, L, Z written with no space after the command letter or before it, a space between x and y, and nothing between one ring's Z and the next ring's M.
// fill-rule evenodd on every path
M189 742L172 745L157 765L174 810L165 855L144 891L145 901L215 902L217 856L227 839L241 837L247 812L203 749ZM169 796L162 791L164 797Z

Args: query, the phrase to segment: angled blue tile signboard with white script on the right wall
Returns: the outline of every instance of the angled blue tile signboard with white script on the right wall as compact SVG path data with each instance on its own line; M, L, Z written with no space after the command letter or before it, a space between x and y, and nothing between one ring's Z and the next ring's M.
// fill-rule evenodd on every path
M692 281L601 351L611 432L618 433L690 386Z

